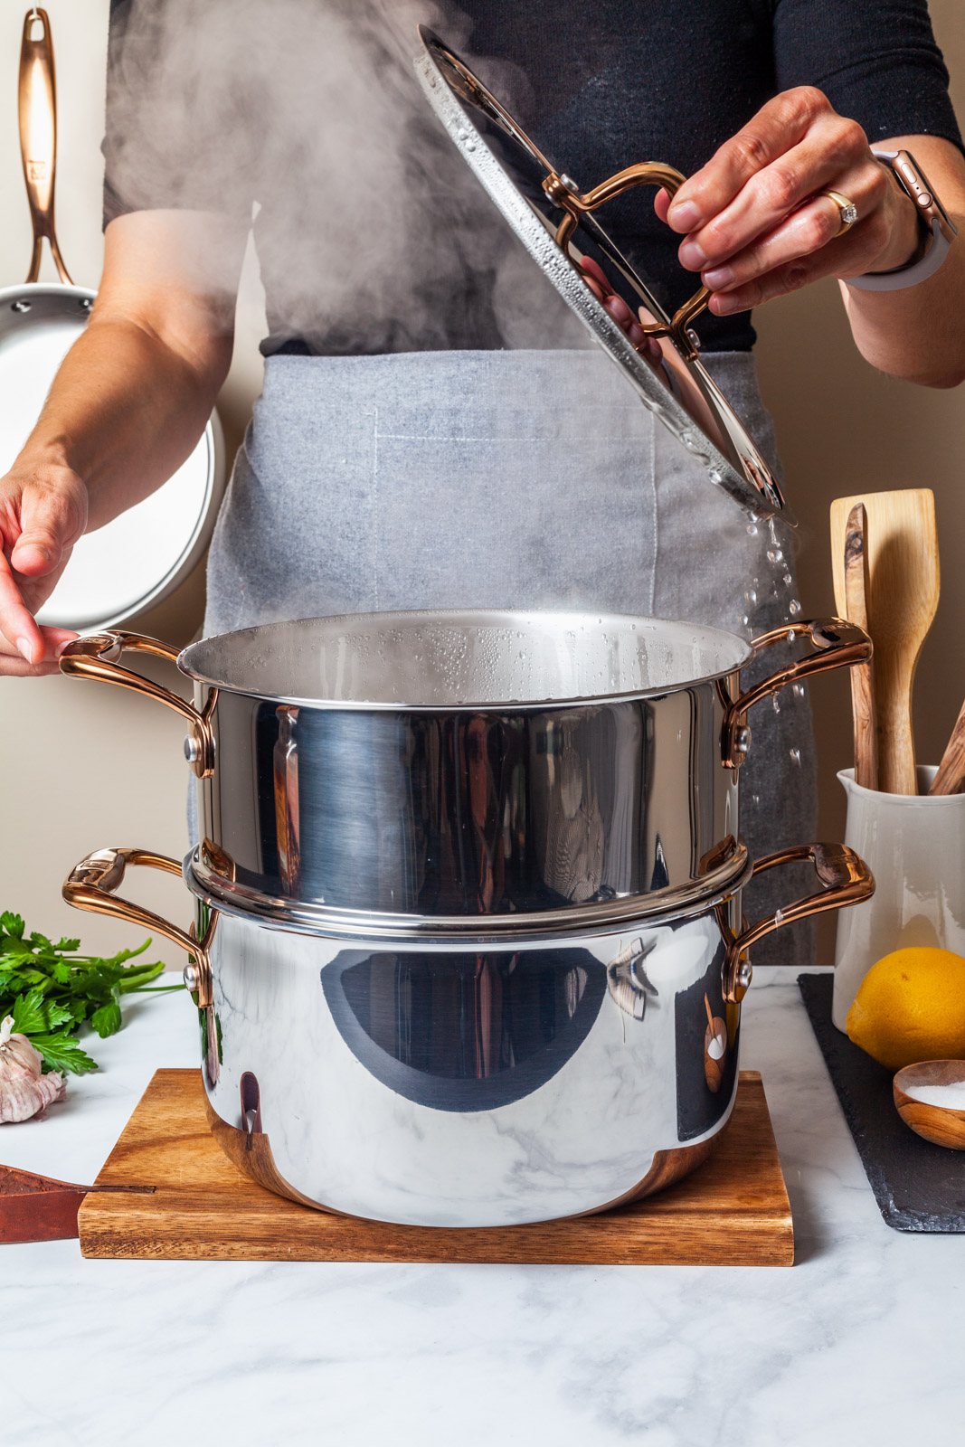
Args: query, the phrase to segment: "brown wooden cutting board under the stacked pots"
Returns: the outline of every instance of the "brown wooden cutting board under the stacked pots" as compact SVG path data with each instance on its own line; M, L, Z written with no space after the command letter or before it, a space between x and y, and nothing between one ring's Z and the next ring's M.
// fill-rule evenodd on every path
M757 1071L741 1071L715 1155L658 1195L540 1226L437 1230L313 1211L256 1185L208 1130L198 1071L158 1071L88 1195L84 1256L161 1260L516 1262L790 1266L794 1231Z

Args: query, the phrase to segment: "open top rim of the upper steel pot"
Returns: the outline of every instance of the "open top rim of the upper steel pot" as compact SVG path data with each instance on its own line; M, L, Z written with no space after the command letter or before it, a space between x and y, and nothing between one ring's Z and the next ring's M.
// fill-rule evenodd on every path
M632 629L641 628L641 632L655 632L660 628L673 629L689 629L694 644L703 644L707 648L712 647L726 647L734 653L734 661L728 667L720 667L710 670L707 673L694 674L693 677L680 679L676 683L658 683L645 689L626 689L622 692L612 693L586 693L586 695L567 695L560 697L538 697L538 699L501 699L501 700L485 700L475 702L473 699L459 700L454 703L414 703L405 702L404 699L324 699L324 697L305 697L297 693L269 693L258 687L242 687L237 683L231 683L229 679L221 676L216 669L203 669L197 664L198 657L204 653L211 653L217 650L218 644L227 642L227 640L252 638L258 635L263 640L266 645L271 644L272 634L279 634L282 629L291 628L308 628L311 624L326 624L334 629L337 625L353 624L359 625L369 624L370 627L398 627L408 621L424 621L424 622L441 622L443 619L450 621L454 627L472 627L472 625L489 625L493 628L521 628L531 624L534 619L543 627L556 625L560 631L574 627L593 627L593 628L616 628L625 629L629 624ZM178 654L177 663L181 673L192 679L195 683L203 686L218 689L226 693L239 693L252 699L263 699L266 703L286 703L297 708L308 709L324 709L336 712L362 712L362 713L521 713L547 709L571 709L582 705L600 705L600 703L626 703L635 699L650 699L650 697L664 697L668 693L676 693L680 689L697 687L706 683L715 683L720 679L731 679L735 673L754 657L754 647L748 640L741 638L738 634L728 632L723 628L712 628L705 624L690 624L680 619L671 618L647 618L644 615L634 614L606 614L606 612L586 612L573 611L566 612L561 609L502 609L502 608L425 608L425 609L398 609L372 614L333 614L323 615L320 618L295 618L272 624L258 624L252 628L237 628L226 634L213 634L208 638L200 638L188 644ZM230 670L224 670L230 671Z

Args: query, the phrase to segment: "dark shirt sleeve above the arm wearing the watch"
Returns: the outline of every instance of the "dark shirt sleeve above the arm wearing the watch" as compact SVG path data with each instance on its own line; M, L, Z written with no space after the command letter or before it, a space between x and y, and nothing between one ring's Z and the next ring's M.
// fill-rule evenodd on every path
M942 136L962 149L926 0L775 0L778 90L817 85L874 145Z

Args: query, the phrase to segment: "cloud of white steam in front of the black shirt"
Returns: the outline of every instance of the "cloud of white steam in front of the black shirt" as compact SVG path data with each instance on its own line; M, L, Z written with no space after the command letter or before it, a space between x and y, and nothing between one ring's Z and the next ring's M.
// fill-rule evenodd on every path
M428 110L412 0L132 0L116 25L110 191L122 208L255 220L273 350L582 346ZM505 62L482 67L525 96Z

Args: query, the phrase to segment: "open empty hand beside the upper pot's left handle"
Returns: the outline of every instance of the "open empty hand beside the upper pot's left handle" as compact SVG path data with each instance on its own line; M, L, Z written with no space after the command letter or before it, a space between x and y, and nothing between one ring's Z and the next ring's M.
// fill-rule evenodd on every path
M42 628L33 614L87 525L87 489L69 467L14 463L0 479L0 676L56 673L77 634Z

